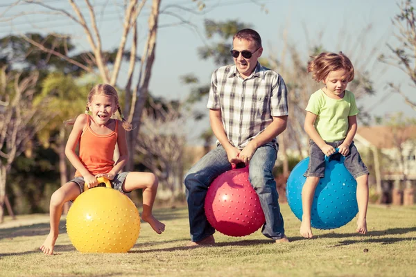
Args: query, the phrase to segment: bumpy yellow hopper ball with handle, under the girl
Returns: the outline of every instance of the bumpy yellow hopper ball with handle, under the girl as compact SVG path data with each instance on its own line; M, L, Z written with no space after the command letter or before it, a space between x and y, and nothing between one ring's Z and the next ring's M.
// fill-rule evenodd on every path
M73 246L82 253L123 253L135 245L140 216L135 204L111 188L110 181L97 178L105 188L81 193L67 215L67 232Z

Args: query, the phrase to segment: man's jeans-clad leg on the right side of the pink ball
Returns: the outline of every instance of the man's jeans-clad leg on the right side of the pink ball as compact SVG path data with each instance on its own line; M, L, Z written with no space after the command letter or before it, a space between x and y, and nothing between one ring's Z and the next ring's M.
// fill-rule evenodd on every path
M284 221L278 202L279 195L272 175L276 157L277 150L271 145L257 148L250 160L250 183L259 195L261 208L263 208L264 217L266 217L266 223L263 225L261 233L276 242L288 242L284 235Z

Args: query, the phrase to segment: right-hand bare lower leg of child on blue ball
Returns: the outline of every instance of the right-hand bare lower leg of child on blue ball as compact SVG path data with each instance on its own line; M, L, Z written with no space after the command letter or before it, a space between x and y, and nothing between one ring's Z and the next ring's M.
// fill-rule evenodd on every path
M357 177L358 221L356 231L367 233L368 175Z

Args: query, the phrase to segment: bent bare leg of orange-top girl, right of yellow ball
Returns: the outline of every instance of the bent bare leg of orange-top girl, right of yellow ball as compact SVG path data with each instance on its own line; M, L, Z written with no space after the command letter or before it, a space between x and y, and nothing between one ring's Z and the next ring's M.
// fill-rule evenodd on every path
M165 224L159 222L153 214L152 208L155 203L157 193L158 180L157 177L150 172L129 172L125 177L122 186L124 191L143 189L143 211L141 218L152 226L156 233L162 233L165 229Z

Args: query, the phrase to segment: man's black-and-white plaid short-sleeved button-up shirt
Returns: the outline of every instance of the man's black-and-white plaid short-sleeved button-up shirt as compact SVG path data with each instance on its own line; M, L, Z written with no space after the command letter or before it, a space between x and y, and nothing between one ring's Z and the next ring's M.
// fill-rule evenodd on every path
M286 85L259 63L246 79L235 65L222 66L212 74L207 108L221 110L229 142L243 149L272 123L272 116L288 115ZM271 143L276 145L276 139Z

